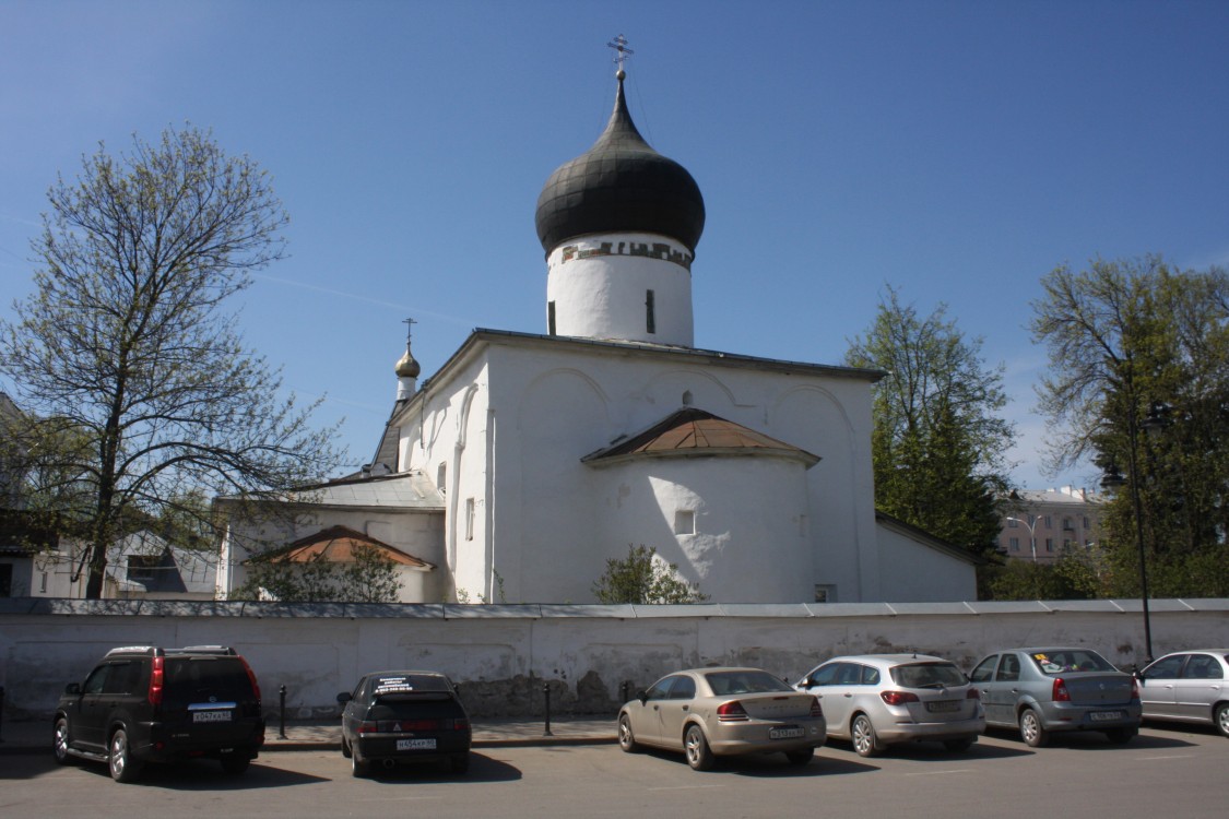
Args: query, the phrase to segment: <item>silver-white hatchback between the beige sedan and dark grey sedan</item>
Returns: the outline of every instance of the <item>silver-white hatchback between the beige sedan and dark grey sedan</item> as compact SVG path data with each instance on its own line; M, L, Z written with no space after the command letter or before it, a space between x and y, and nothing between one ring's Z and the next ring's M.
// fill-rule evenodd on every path
M850 740L860 756L919 739L962 751L986 729L977 689L941 657L833 657L794 688L819 696L828 736Z

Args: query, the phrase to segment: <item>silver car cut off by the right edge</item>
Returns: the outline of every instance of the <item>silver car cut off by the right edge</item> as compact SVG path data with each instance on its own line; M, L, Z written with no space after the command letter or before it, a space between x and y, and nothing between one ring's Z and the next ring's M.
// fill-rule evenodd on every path
M1165 654L1138 679L1145 720L1202 722L1229 737L1229 648Z

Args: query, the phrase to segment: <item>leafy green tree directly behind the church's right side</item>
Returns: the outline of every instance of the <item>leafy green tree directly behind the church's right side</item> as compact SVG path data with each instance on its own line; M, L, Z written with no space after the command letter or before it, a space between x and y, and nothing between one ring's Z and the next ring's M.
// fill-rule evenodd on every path
M873 408L875 506L989 555L1015 431L999 416L1003 367L987 367L981 346L946 318L944 305L919 317L890 287L865 338L850 341L846 363L886 373Z

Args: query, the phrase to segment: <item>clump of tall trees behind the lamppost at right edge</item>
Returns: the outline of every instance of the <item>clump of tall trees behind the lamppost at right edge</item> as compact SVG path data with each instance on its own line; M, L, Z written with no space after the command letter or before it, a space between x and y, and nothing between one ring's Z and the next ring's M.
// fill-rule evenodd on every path
M1106 593L1141 593L1142 532L1150 594L1229 594L1229 274L1095 259L1042 289L1031 329L1050 357L1048 463L1091 460L1127 481L1102 521Z

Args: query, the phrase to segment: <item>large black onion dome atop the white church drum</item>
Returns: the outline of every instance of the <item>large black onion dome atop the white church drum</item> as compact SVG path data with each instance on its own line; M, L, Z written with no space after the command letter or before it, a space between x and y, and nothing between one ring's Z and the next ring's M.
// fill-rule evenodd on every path
M594 146L560 165L538 195L538 239L547 253L586 233L660 233L692 253L704 232L704 198L687 168L644 141L623 99Z

